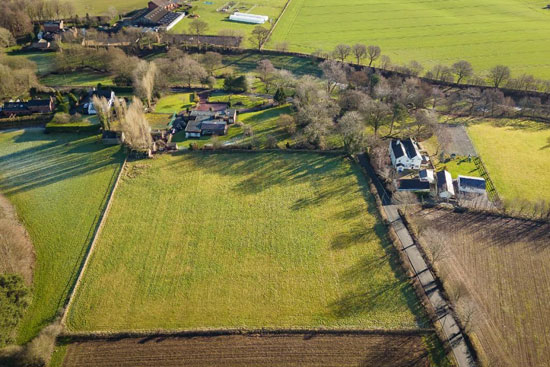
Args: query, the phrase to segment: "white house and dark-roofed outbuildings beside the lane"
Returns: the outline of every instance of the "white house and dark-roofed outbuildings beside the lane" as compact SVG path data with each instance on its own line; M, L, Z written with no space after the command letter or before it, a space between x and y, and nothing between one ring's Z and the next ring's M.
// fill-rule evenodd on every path
M407 177L394 180L397 191L430 193L442 200L486 195L486 182L481 177L459 175L453 180L449 171L435 171L412 138L393 139L389 148L392 166L398 175ZM411 175L416 177L410 178Z

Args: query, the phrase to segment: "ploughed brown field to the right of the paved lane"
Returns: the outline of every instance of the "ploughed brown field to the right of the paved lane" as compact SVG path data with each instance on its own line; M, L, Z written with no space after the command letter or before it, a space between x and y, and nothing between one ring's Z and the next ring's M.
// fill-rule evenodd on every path
M499 367L550 366L550 224L424 209L408 215L482 358Z

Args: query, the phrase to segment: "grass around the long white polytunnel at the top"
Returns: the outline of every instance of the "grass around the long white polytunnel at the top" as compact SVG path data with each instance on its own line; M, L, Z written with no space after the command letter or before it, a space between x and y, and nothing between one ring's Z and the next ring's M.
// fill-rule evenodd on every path
M242 31L245 35L249 35L256 25L230 21L230 14L239 11L241 13L267 15L270 21L275 22L283 10L286 0L235 1L235 6L228 13L217 11L228 3L229 1L226 0L197 1L191 3L193 7L196 7L195 14L199 15L199 19L208 23L206 34L216 35L223 29L236 29ZM183 19L170 32L189 33L189 24L191 21L191 18ZM271 27L268 23L263 26L268 29ZM243 45L249 46L248 39L244 40Z

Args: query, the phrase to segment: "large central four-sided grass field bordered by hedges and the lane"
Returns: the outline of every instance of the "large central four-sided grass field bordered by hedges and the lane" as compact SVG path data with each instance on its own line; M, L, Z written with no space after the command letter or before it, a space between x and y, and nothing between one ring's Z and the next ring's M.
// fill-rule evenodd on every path
M129 163L72 331L426 326L361 171L310 153Z

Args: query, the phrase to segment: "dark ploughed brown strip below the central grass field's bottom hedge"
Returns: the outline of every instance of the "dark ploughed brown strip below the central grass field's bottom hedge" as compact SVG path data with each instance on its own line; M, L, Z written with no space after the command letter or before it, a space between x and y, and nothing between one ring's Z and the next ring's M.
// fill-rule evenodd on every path
M429 366L422 335L223 335L75 342L64 367Z

